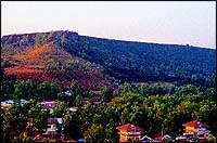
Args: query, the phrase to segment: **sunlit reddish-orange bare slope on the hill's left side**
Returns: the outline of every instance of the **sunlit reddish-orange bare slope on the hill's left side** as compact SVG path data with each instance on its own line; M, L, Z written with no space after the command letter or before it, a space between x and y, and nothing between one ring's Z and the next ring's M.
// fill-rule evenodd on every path
M28 48L21 54L3 54L3 56L11 65L4 68L5 74L16 76L17 79L55 82L60 86L71 86L72 81L76 80L84 90L100 90L101 87L111 84L108 76L103 75L98 65L74 57L53 43ZM52 60L60 64L59 69L48 72L47 63ZM77 66L66 69L67 64L72 62Z

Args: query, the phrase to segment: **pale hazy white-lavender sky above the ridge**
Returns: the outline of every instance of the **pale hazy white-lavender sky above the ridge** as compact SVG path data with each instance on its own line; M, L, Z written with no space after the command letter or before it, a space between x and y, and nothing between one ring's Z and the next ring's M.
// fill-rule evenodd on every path
M216 2L1 1L1 36L51 30L216 49Z

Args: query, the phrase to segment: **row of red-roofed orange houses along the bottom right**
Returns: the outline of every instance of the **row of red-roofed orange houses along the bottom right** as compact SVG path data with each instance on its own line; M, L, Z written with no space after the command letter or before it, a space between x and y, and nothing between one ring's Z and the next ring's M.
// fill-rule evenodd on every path
M129 139L138 139L142 142L208 142L207 138L210 131L207 129L208 126L206 123L193 120L182 126L186 128L184 133L177 138L173 138L168 134L153 139L148 135L142 136L143 129L131 123L116 127L116 129L119 130L119 142L127 142Z

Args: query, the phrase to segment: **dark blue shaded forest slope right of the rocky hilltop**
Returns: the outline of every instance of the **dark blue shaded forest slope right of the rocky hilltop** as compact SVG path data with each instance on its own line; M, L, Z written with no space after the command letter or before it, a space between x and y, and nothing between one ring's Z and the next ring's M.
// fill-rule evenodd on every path
M191 80L199 84L209 79L215 81L216 50L86 36L80 36L78 41L77 49L72 49L71 53L102 65L106 73L118 79L183 82Z

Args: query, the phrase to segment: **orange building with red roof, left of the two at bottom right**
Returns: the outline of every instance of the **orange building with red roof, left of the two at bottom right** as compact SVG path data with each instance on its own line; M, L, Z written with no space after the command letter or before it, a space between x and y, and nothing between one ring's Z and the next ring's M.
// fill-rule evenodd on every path
M143 131L143 129L132 123L126 123L116 127L116 129L119 130L119 142L127 142L128 139L141 139L141 132Z

